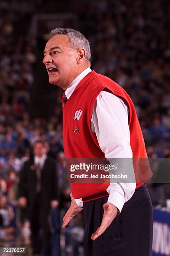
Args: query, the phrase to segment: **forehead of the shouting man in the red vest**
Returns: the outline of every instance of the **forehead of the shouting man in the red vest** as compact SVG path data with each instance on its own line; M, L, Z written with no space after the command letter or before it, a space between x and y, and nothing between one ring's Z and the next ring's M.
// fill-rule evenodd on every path
M50 48L54 46L59 46L60 48L63 48L65 46L70 46L70 40L67 35L56 35L52 36L47 41L47 44L45 46L45 51L50 50Z

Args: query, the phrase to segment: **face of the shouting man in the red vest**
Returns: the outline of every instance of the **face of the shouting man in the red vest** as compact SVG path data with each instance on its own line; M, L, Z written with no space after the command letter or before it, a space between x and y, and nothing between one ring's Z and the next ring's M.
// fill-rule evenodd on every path
M72 49L66 35L50 38L44 50L43 63L49 82L64 90L77 76L77 50Z

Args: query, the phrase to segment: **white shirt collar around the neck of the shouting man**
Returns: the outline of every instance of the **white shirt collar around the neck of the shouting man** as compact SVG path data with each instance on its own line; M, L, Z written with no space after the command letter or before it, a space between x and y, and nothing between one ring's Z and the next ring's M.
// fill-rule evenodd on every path
M70 96L72 95L72 92L74 92L75 87L77 86L77 84L88 74L90 73L92 70L90 69L90 67L88 67L87 69L85 69L83 72L81 72L67 87L67 89L65 90L65 96L67 97L67 100L70 98Z

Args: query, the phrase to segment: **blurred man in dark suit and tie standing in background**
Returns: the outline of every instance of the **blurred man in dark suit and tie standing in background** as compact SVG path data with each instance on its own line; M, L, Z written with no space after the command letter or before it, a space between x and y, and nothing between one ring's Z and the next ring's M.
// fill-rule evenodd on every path
M50 208L58 205L57 177L56 164L45 151L44 142L36 141L34 157L25 162L20 174L18 204L27 206L33 253L40 253L42 248L45 255L50 255L48 217Z

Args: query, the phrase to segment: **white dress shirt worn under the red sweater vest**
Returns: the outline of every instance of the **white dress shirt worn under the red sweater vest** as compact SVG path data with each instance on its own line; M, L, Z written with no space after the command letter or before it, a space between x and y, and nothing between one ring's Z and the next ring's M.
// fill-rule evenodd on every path
M85 69L67 87L65 95L70 98L77 84L92 70ZM128 106L117 96L102 91L97 96L91 118L91 129L105 158L130 158L133 153L130 147L130 131L128 125ZM134 175L134 171L133 174ZM107 188L107 202L115 205L121 212L123 205L135 192L135 183L110 183ZM83 206L82 199L75 199L77 205Z

